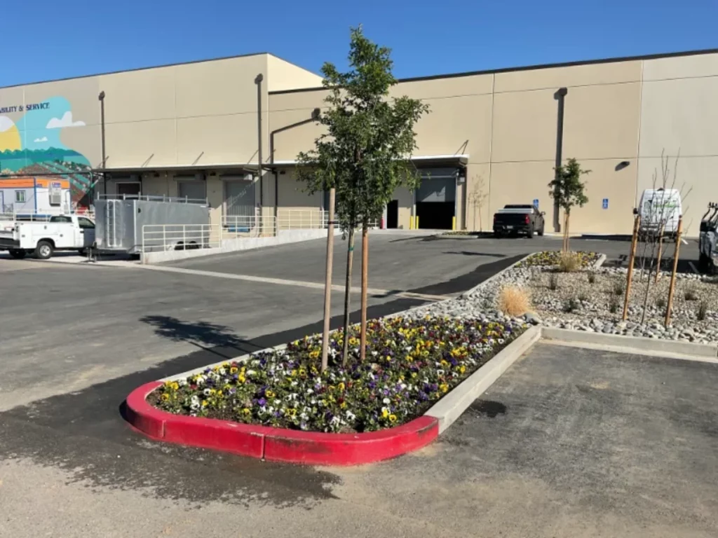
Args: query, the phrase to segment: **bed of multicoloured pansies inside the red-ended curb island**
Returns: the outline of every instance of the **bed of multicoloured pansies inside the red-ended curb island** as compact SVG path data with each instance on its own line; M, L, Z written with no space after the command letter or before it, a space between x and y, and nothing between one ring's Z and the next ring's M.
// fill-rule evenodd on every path
M347 367L320 372L321 336L284 350L226 362L187 379L165 382L147 401L161 410L277 428L368 432L422 415L487 362L526 325L452 318L370 321L367 360L358 359L358 331L350 331ZM340 357L342 334L330 356Z

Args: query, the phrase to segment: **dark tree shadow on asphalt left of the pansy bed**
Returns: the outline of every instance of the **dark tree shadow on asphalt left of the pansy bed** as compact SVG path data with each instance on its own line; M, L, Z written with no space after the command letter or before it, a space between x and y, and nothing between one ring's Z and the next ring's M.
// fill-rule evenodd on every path
M187 342L225 359L237 356L237 351L258 351L256 344L237 336L228 326L209 321L182 321L172 316L144 316L144 324L154 327L154 334L176 342Z

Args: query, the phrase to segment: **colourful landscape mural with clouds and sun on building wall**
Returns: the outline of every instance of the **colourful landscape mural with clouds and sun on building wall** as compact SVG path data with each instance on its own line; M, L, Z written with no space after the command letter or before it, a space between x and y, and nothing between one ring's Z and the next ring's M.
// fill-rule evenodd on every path
M22 114L12 121L9 114ZM85 126L70 103L53 97L42 103L0 105L0 176L56 176L70 181L73 204L86 204L93 187L90 161L60 140L63 129Z

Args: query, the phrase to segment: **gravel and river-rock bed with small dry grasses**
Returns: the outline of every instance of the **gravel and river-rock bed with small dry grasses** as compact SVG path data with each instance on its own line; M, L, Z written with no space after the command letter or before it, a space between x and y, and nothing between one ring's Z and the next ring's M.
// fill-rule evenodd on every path
M593 275L594 282L589 282ZM551 290L550 279L556 278ZM528 321L533 324L579 331L623 334L648 338L718 344L718 280L714 277L679 274L673 298L671 326L663 326L665 301L668 299L669 273L661 273L651 285L643 317L643 302L648 278L636 270L630 293L628 320L621 321L625 268L584 269L576 273L556 273L550 266L521 264L505 270L496 278L478 286L466 296L417 308L411 316L452 316L485 320ZM533 312L521 318L505 316L497 308L498 292L505 285L525 288L531 297ZM619 293L620 292L620 293ZM705 317L699 320L699 310Z

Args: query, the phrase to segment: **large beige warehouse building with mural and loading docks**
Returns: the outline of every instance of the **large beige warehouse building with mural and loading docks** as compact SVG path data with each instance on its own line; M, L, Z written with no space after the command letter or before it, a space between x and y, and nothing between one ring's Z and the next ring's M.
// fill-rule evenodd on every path
M562 155L591 170L572 231L629 232L661 155L673 181L680 154L676 188L697 235L718 201L715 50L401 80L393 94L431 110L416 128L424 180L398 189L383 225L488 230L504 204L533 202L551 222L560 88ZM206 197L215 222L318 213L325 197L303 192L294 164L320 135L324 96L320 76L269 54L0 88L0 170L66 176L81 202L104 171L107 192Z

